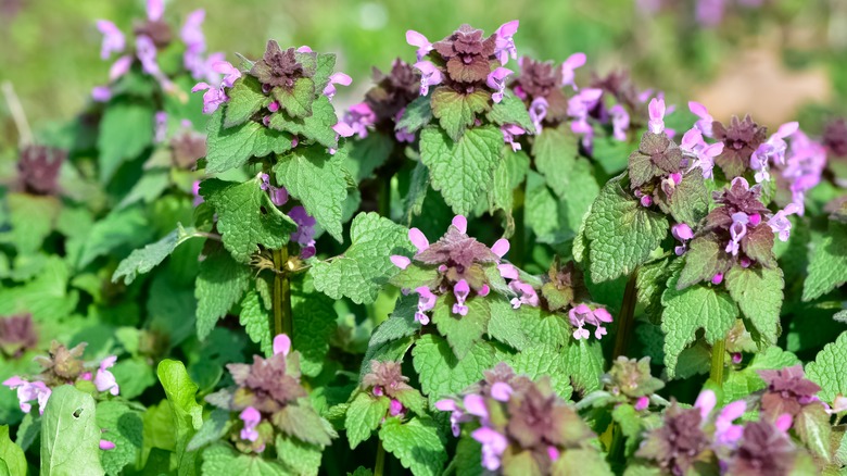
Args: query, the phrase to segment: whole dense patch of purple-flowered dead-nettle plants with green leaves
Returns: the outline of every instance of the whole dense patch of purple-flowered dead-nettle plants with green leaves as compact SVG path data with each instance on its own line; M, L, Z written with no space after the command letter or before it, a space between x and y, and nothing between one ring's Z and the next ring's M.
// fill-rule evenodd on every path
M0 474L838 474L847 125L463 25L333 54L150 0L1 191ZM339 120L339 117L341 117Z

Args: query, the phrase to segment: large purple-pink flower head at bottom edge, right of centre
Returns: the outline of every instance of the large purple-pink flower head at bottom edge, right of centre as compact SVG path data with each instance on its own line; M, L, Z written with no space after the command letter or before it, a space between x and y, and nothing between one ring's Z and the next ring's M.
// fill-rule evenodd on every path
M532 381L503 363L460 398L440 400L435 408L451 412L454 436L466 424L467 435L482 444L488 471L508 474L513 461L523 460L536 467L534 474L551 474L562 453L592 449L594 434L547 377Z

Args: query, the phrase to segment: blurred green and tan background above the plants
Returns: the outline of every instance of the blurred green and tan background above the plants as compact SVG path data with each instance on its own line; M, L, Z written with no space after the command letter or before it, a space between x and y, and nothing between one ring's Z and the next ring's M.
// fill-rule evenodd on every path
M713 28L695 20L695 0L172 0L165 16L181 25L188 12L205 9L210 51L230 61L235 52L255 58L268 38L338 53L339 70L354 79L339 93L342 107L368 88L371 66L414 60L406 29L437 40L462 23L492 33L518 18L520 53L557 61L589 54L581 84L592 72L630 70L641 88L666 90L683 107L699 100L718 118L749 112L774 126L799 116L816 133L847 97L847 1L742 2L725 0ZM100 60L96 20L127 32L143 16L141 0L0 0L0 82L13 84L35 129L71 118L111 64ZM14 143L5 101L0 125L0 142Z

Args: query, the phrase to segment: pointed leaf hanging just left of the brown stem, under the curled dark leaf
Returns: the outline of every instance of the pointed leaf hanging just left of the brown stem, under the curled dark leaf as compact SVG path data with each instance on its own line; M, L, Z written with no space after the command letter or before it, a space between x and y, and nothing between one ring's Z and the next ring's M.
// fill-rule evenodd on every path
M197 336L203 340L237 303L250 286L253 272L217 247L200 262L194 297L197 298Z

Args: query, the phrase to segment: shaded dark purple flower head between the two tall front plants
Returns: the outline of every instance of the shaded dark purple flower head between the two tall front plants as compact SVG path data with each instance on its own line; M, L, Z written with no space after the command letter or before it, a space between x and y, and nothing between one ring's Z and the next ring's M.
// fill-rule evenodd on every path
M374 68L374 87L365 93L365 100L350 107L343 122L355 135L364 139L370 129L393 134L399 142L412 142L415 135L404 128L395 130L406 107L418 97L420 75L410 64L396 59L391 72L383 74Z

